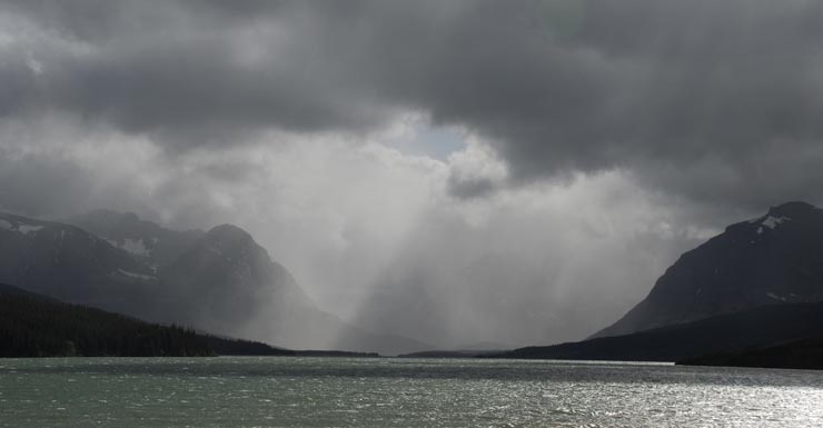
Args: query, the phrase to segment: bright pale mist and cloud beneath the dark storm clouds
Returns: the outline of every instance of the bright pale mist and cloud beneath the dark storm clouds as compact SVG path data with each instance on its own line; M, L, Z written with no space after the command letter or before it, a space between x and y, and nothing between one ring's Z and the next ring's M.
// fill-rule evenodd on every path
M505 165L465 133L446 159L405 155L393 147L416 138L408 123L356 142L277 133L173 160L145 139L101 130L85 142L52 123L60 139L6 145L3 200L58 219L107 207L178 229L236 223L323 309L444 347L585 337L715 232L616 170L455 197L455 177L495 180Z

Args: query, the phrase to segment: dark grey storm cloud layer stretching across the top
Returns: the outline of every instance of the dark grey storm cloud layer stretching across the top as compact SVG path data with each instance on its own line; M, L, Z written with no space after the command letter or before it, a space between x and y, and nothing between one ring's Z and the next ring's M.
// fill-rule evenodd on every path
M71 111L188 147L358 131L412 109L485 136L514 181L624 168L756 205L779 197L764 168L803 162L792 193L819 198L816 1L7 4L86 49L26 44L17 56L42 63L37 77L2 62L7 116ZM712 176L726 180L700 179Z

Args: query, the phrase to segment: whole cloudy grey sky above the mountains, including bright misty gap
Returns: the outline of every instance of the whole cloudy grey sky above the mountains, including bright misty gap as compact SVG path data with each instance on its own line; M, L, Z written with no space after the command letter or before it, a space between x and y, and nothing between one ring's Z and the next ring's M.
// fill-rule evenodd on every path
M823 202L823 2L0 1L0 209L250 231L326 310L581 339Z

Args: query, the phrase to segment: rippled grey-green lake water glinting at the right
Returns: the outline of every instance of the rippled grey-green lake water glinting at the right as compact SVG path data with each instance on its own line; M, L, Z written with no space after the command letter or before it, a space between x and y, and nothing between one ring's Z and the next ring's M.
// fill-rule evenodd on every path
M823 427L823 374L346 358L0 360L0 427Z

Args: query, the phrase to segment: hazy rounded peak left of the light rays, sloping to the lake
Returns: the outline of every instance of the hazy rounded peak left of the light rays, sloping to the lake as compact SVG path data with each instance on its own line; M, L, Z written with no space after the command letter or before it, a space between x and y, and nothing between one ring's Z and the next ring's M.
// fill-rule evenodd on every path
M170 265L158 269L180 298L197 295L185 313L209 331L235 326L232 335L292 349L343 349L400 354L426 345L351 326L319 310L281 265L242 229L217 226Z

